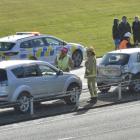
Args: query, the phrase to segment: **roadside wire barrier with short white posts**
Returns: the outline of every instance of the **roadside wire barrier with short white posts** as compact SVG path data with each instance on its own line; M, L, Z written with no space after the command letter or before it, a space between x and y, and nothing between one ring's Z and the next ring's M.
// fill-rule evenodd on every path
M127 87L130 83L139 83L140 84L140 79L137 79L137 80L128 80L128 81L123 81L123 82L120 82L120 83L111 83L111 84L108 84L108 85L103 85L103 86L98 86L98 88L102 88L102 89L107 89L108 87L111 87L111 86L118 86L118 100L121 100L122 99L122 87ZM75 105L75 108L78 109L79 107L79 97L80 97L80 92L81 90L78 90L78 89L75 89L75 90L72 90L72 91L67 91L65 92L62 92L62 93L58 93L58 98L64 98L64 97L67 97L67 96L71 96L71 98L73 98L73 100L76 100L76 105ZM82 89L82 93L84 92L89 92L88 88L84 88ZM54 95L56 96L56 95ZM48 97L46 97L47 99ZM43 100L45 101L45 99L43 98ZM34 114L34 102L35 101L42 101L42 99L34 99L32 96L30 96L30 115L33 115ZM18 105L19 102L14 102L14 103L0 103L0 108L6 108L6 107L9 107L9 106L15 106L15 105Z

